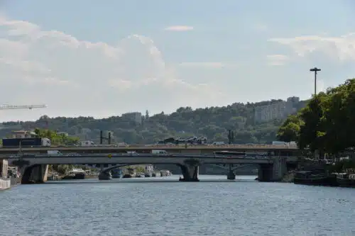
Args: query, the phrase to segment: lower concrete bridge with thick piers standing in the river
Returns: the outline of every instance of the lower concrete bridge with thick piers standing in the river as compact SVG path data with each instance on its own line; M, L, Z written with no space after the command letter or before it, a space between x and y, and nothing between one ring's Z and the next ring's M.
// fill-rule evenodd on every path
M177 164L185 181L198 181L199 166L202 164L258 164L259 181L278 181L287 172L288 164L295 162L297 157L228 157L211 154L31 154L9 157L9 164L21 169L22 184L46 181L48 164Z

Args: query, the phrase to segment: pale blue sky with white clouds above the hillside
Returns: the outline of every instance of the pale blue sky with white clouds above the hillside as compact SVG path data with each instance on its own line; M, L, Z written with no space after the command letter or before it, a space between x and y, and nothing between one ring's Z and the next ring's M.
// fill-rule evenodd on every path
M101 3L100 3L101 2ZM307 99L355 77L355 2L2 1L3 120Z

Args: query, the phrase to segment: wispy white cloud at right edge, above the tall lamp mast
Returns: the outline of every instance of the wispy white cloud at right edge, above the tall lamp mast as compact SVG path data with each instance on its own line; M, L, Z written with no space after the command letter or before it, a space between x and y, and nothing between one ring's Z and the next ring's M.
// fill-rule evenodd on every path
M339 37L308 35L295 38L271 38L270 42L287 45L300 57L312 52L322 52L339 60L355 60L355 33Z

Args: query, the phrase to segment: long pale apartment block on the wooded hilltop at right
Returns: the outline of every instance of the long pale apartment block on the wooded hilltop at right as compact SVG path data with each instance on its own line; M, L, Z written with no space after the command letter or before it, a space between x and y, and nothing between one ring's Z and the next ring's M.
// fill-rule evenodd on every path
M278 101L265 106L258 106L254 110L254 121L256 123L263 123L274 119L285 119L297 111L295 105L299 102L300 98L293 96L288 98L287 101Z

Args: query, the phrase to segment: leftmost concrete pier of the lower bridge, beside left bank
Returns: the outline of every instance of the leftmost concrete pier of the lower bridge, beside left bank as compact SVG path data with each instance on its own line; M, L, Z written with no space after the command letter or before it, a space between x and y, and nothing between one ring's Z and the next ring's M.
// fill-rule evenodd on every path
M48 178L48 164L34 164L20 168L21 184L43 184Z

